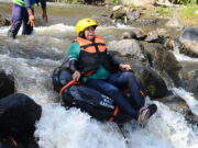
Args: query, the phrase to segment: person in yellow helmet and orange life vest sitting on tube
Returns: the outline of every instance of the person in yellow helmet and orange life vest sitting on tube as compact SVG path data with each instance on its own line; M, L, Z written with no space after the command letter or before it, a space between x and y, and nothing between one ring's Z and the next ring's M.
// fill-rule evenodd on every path
M141 98L141 84L131 72L130 65L117 61L107 52L105 41L95 34L98 23L92 19L81 19L76 24L77 38L68 48L69 68L73 79L112 98L119 107L145 126L156 105L144 106ZM84 73L89 73L84 76ZM124 99L121 89L128 89L130 99L138 110Z

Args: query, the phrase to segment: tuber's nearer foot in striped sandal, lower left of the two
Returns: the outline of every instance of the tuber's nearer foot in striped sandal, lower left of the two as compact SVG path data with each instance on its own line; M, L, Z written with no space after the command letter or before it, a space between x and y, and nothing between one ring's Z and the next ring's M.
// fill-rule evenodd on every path
M144 106L139 112L138 122L141 124L142 127L144 127L147 124L147 121L150 118L150 110Z

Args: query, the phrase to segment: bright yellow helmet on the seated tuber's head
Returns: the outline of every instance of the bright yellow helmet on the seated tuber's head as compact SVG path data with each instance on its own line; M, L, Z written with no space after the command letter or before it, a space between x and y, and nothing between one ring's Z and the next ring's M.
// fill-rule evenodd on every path
M82 32L88 26L97 26L98 23L92 19L81 19L76 24L76 33L79 36L79 33Z

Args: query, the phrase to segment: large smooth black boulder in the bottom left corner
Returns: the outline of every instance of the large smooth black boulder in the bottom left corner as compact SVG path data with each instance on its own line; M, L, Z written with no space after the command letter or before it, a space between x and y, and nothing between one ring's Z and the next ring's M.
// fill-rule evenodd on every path
M0 137L12 137L20 148L35 148L33 134L35 122L40 119L42 107L25 94L11 94L0 100ZM0 138L0 145L1 145ZM2 144L3 145L3 144ZM31 146L35 147L31 147ZM4 147L3 147L4 148Z

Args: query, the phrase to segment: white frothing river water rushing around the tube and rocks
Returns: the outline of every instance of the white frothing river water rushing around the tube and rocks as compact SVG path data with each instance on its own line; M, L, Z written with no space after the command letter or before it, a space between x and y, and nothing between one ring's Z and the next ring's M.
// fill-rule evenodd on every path
M9 8L10 3L4 5L0 2L0 12L2 5ZM75 22L88 15L76 13L77 9L89 10L90 16L99 18L102 22L102 14L107 8L97 8L98 11L95 11L96 7L90 5L48 5L58 11L67 9L70 12L66 15L57 14L58 19L52 21L51 25L35 27L35 33L31 36L21 36L19 33L14 41L7 39L9 27L0 27L0 68L14 76L16 92L30 95L43 107L35 132L41 148L198 147L198 127L188 124L184 115L157 101L154 103L157 104L158 111L152 116L147 127L141 128L133 121L123 127L128 144L116 124L91 119L88 114L77 109L65 110L58 103L58 95L53 91L52 72L63 62L68 45L75 38ZM113 26L108 22L97 29L97 34L109 42L118 39L121 33L130 29L123 25ZM175 56L180 62L193 62L194 66L198 66L198 59L184 57L177 52ZM198 115L198 101L194 94L180 88L170 89ZM150 99L146 99L146 102L150 102Z

